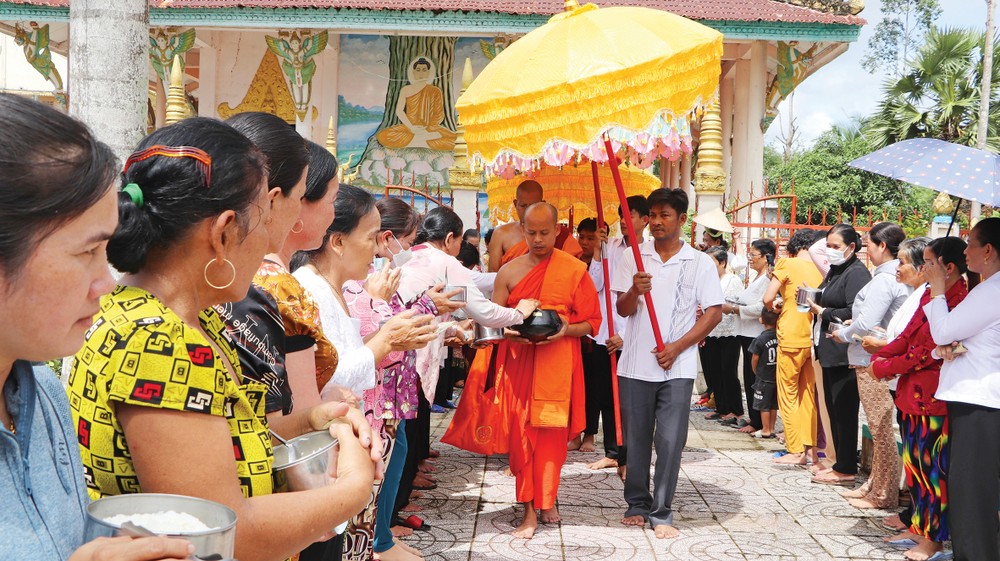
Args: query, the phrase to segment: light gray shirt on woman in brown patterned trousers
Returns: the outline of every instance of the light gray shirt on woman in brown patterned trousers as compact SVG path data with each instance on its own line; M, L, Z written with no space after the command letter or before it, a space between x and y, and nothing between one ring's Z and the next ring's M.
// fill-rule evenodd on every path
M910 295L910 288L896 281L899 260L893 259L875 268L872 280L854 297L851 307L851 325L837 332L841 340L848 341L847 359L851 366L868 366L872 355L853 336L864 337L873 327L885 329L896 310Z

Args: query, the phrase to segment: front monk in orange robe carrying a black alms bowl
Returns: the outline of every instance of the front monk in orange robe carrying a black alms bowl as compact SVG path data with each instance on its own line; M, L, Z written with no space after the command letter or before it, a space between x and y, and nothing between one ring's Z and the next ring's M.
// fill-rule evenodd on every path
M443 442L485 453L509 453L524 518L514 535L531 538L544 523L559 522L556 495L566 442L586 425L580 337L601 325L600 303L582 261L555 249L558 213L536 203L524 215L530 248L497 275L493 298L506 306L524 298L555 310L562 328L533 344L517 332L495 349L479 352ZM491 352L492 351L492 352ZM486 393L483 393L483 388Z

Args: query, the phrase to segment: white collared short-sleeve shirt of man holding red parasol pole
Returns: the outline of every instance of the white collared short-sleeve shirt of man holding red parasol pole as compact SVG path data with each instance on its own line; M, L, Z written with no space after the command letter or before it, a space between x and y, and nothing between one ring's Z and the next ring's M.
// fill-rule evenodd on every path
M722 285L715 260L688 244L666 263L660 259L652 240L640 246L642 263L653 276L653 305L660 322L663 342L676 341L694 327L698 306L708 309L723 303ZM611 276L611 290L627 292L636 273L635 258L625 253ZM660 368L653 350L653 337L645 298L639 298L635 314L629 317L625 329L618 375L647 382L663 382L679 378L694 379L698 374L697 345L684 349L670 370Z

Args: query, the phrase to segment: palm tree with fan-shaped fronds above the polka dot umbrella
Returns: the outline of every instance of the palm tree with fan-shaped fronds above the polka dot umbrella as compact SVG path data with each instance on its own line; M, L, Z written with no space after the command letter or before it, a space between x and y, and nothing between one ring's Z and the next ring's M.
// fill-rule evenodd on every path
M865 127L873 149L909 138L932 137L976 145L984 35L967 29L932 28L906 72L886 82L883 99ZM994 41L994 53L1000 44ZM992 91L1000 71L991 72ZM1000 151L1000 106L991 94L987 149Z

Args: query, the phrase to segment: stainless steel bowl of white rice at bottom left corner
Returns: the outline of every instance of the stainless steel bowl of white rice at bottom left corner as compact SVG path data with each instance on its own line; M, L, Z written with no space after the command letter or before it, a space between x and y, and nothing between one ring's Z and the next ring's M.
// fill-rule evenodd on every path
M183 495L132 493L98 499L87 505L83 541L119 535L120 525L107 522L107 519L120 514L155 514L171 510L189 514L212 529L202 532L169 532L165 535L191 542L198 557L233 558L236 549L236 513L225 505Z

